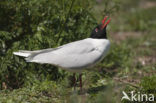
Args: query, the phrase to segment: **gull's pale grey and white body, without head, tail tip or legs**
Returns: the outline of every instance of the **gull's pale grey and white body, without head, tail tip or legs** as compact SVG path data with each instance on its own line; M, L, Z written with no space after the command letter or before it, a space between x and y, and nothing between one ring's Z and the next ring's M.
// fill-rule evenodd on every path
M48 52L42 51L30 56L31 60L27 60L53 64L70 71L79 71L100 61L108 52L109 46L109 40L88 38L60 46L58 49Z

